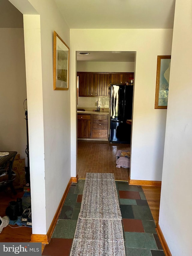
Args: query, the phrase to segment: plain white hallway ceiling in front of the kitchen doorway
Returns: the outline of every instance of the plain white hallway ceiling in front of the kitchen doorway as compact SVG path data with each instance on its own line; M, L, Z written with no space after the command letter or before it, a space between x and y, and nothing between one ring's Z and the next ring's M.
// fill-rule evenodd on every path
M55 0L70 29L170 29L175 0Z

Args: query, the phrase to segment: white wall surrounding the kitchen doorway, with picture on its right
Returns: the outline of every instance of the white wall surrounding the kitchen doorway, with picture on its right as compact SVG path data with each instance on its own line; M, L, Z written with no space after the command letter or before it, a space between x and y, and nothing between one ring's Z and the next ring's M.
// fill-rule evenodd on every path
M167 110L154 108L156 69L157 56L171 54L172 33L172 29L70 29L70 78L74 93L76 51L137 52L131 179L161 180ZM76 143L75 107L76 99L71 97L73 144ZM75 154L75 150L72 148L72 155ZM75 163L72 163L72 167L73 170L76 168Z

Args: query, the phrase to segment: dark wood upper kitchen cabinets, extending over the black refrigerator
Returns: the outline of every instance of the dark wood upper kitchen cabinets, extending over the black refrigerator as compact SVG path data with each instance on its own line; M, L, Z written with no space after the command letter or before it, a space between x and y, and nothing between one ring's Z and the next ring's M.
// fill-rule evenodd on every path
M79 97L109 96L110 83L126 83L134 73L77 72Z

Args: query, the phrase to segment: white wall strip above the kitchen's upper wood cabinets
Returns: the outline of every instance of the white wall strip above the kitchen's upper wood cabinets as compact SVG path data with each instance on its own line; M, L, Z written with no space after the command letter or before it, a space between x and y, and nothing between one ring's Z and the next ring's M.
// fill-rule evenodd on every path
M134 62L77 61L81 72L134 72Z

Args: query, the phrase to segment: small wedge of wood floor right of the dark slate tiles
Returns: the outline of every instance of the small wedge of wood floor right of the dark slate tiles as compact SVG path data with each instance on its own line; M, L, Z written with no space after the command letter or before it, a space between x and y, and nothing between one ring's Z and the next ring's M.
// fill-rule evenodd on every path
M155 224L157 224L159 221L161 186L142 186L142 188L155 220Z

